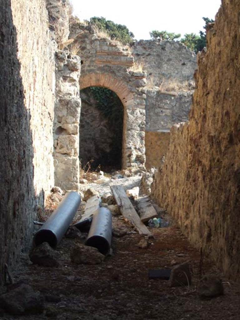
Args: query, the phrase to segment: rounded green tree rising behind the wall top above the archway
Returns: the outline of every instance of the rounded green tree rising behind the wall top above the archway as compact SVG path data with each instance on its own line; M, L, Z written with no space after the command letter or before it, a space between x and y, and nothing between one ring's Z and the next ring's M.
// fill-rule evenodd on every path
M131 44L133 42L134 34L124 25L106 20L103 17L92 17L90 24L95 25L100 30L107 31L111 39L116 39L123 44Z

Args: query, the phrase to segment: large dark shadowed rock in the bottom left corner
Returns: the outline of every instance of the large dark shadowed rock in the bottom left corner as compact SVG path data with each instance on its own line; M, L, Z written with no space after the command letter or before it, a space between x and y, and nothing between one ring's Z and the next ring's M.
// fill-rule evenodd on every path
M0 307L12 315L39 314L44 310L44 298L23 282L12 284L0 296Z

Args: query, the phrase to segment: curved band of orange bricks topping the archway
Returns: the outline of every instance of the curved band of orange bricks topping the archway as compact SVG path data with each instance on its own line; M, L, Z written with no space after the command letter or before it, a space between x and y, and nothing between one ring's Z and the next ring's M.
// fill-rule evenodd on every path
M80 90L87 87L105 87L117 94L124 107L133 104L133 94L120 79L109 73L90 73L80 77Z

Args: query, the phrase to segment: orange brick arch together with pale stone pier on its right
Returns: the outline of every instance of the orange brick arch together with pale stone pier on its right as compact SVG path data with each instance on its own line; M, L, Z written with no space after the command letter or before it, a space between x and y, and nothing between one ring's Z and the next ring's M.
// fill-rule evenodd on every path
M80 90L87 87L105 87L117 94L124 106L122 169L144 168L145 164L145 99L146 74L129 73L126 69L122 77L116 75L116 66L111 72L88 72L85 67L79 79ZM99 68L99 67L98 67ZM97 68L96 68L97 69ZM125 81L124 81L124 80Z

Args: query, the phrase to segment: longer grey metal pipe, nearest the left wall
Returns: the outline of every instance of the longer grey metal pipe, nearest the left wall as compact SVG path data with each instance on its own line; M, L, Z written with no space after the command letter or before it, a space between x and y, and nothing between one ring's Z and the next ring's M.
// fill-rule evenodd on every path
M43 242L48 242L51 247L55 248L66 233L80 203L81 196L77 192L68 192L57 209L37 231L34 236L34 243L39 245Z

